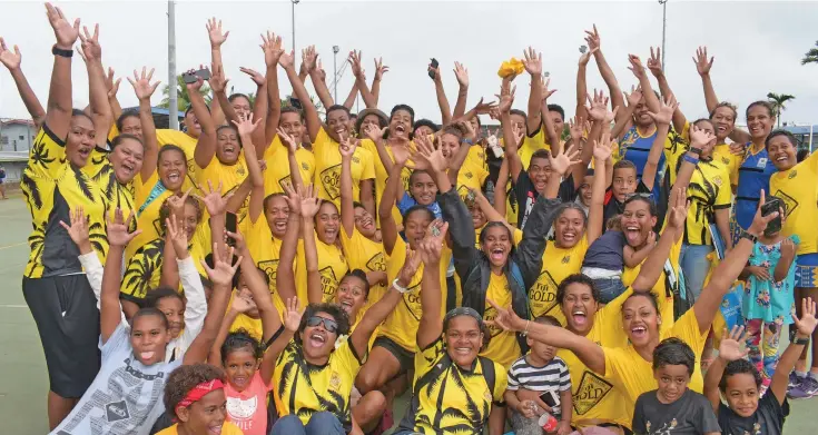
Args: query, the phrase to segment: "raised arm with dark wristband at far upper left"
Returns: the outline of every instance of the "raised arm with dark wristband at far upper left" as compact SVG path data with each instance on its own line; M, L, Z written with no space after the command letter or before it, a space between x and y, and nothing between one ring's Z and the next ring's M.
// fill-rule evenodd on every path
M79 37L79 18L71 24L60 8L46 3L48 21L51 23L57 43L52 48L55 53L51 85L48 90L46 106L46 121L48 128L58 137L68 137L73 110L71 99L71 53L73 42ZM111 330L112 332L112 330Z

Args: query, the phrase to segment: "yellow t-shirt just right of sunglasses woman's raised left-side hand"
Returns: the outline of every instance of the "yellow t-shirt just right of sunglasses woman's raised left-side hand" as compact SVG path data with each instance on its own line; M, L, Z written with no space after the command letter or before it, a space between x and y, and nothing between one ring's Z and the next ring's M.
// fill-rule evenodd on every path
M247 218L242 224L242 230L244 231L244 238L247 241L247 249L249 249L253 260L256 261L256 266L267 274L269 279L269 294L273 297L273 304L276 306L279 316L284 316L286 307L282 296L278 294L276 287L276 274L278 273L278 258L282 251L282 240L273 237L273 233L269 230L267 219L264 214L256 219L254 224L252 219Z

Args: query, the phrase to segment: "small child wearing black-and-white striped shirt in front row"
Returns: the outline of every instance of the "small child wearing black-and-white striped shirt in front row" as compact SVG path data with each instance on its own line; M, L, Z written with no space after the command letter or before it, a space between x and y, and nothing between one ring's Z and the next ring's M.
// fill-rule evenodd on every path
M533 322L560 327L552 316L540 316ZM511 427L516 435L542 435L539 418L543 413L559 421L556 432L571 432L571 375L568 365L556 355L556 348L528 338L531 352L512 363L509 369L509 387L504 399L512 409ZM558 396L553 405L541 396Z

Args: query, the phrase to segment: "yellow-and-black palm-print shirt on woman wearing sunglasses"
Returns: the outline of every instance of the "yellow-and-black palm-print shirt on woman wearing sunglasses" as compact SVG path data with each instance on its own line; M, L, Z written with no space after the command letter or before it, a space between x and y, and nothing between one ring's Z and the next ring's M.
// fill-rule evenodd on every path
M305 425L314 413L331 412L345 427L351 427L349 395L355 375L366 360L367 349L357 355L349 340L344 340L324 366L304 359L304 350L295 340L282 350L273 374L278 414L297 415Z

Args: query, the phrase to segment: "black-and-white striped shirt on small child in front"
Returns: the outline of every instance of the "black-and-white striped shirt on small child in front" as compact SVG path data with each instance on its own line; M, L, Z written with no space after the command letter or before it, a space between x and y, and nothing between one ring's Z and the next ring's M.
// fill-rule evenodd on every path
M538 367L529 363L525 356L518 358L509 369L509 390L528 389L530 392L564 392L571 389L571 376L568 365L555 356L548 364ZM559 395L558 395L559 396ZM553 407L554 414L560 406Z

